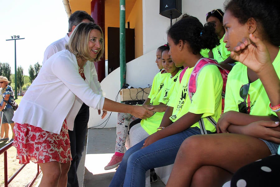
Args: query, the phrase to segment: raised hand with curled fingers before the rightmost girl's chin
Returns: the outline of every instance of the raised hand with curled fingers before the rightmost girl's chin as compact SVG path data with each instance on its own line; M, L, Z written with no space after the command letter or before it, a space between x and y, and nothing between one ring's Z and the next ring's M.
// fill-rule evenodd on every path
M271 65L270 55L265 44L253 34L245 37L231 51L231 58L241 62L255 73L259 73L266 65Z

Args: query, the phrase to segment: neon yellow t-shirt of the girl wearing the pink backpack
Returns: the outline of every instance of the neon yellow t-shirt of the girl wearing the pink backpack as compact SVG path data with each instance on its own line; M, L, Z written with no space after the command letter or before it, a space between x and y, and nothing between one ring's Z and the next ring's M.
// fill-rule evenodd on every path
M216 128L205 117L211 116L215 121L218 121L222 113L223 80L221 73L215 65L203 67L198 74L197 88L191 102L187 84L192 70L193 68L189 68L185 71L181 84L179 80L176 82L175 89L178 90L177 94L173 94L168 102L168 106L173 107L170 120L175 122L188 112L203 114L202 119L206 130L215 132ZM198 122L191 127L199 128Z

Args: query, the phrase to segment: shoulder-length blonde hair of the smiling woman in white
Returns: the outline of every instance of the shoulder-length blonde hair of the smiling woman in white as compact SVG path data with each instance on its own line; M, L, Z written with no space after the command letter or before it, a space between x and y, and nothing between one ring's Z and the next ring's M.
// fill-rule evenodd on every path
M101 56L104 53L104 42L101 43L101 49L97 54L95 59L92 59L90 56L90 50L88 48L89 33L92 29L96 29L101 32L102 38L103 32L100 26L95 23L80 23L72 32L68 44L65 45L65 48L71 53L76 55L77 58L83 58L89 61L99 61Z

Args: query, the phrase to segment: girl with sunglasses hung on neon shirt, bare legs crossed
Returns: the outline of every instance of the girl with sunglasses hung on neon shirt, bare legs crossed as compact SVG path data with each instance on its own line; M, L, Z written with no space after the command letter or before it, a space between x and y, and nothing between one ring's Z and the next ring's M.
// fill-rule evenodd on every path
M231 0L225 9L224 42L232 51L231 57L240 62L263 60L262 56L255 58L256 54L264 53L258 44L246 47L248 42L256 41L254 34L267 47L269 63L279 77L279 2ZM250 40L244 39L249 37ZM273 75L266 76L270 74ZM273 120L279 119L269 107L267 93L258 78L253 69L241 63L233 67L226 84L225 113L217 125L217 131L222 133L187 138L180 147L166 186L222 186L240 167L277 153L280 127ZM274 92L279 94L279 89ZM279 104L279 99L272 104ZM268 123L259 123L260 120Z

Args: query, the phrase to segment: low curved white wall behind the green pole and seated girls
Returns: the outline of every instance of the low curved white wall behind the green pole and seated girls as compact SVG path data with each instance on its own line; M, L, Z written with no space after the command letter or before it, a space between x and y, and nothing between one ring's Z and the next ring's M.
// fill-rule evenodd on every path
M154 76L159 72L155 60L156 50L152 50L151 52L128 62L126 64L126 82L134 88L146 88L147 84L152 85ZM100 84L102 90L106 93L105 97L115 101L120 90L120 68L111 72ZM120 97L118 97L117 102L120 102ZM109 114L110 112L108 112L105 119L101 119L101 115L98 115L97 110L90 108L88 127L100 125L107 119ZM96 128L103 127L105 123L106 122ZM116 127L116 123L117 113L113 112L105 128Z

